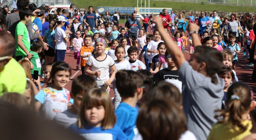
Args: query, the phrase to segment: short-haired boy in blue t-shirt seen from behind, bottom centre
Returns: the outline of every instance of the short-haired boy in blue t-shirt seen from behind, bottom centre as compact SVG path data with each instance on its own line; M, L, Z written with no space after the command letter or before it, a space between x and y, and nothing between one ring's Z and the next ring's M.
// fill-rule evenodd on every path
M138 111L135 106L142 97L142 86L143 78L140 74L131 70L120 70L116 73L116 88L122 97L122 102L115 111L116 125L124 131L129 140L138 134Z

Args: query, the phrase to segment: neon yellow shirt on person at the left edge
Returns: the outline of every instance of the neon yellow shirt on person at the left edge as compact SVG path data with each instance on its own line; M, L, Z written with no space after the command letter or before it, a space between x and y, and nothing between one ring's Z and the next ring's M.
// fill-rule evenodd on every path
M3 71L0 70L0 96L7 92L23 94L26 85L27 80L25 70L12 58L4 66Z

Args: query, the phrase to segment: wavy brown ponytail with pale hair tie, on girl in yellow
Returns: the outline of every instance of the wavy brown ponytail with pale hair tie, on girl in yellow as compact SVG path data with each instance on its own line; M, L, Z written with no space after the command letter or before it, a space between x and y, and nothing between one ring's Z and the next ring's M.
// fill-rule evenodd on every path
M215 118L218 123L230 122L231 128L236 131L236 127L246 130L248 125L243 125L243 115L251 106L251 88L243 82L236 82L228 88L227 104L225 109L217 109Z

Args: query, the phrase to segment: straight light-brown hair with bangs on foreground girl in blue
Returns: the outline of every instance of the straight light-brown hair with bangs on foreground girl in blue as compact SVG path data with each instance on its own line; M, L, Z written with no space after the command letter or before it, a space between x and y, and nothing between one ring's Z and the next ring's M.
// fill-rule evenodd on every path
M116 115L113 111L111 101L106 90L99 88L92 88L85 95L81 102L77 126L79 129L84 128L84 125L88 122L85 119L84 110L86 108L103 106L105 109L104 119L102 120L101 127L102 129L112 129L116 123Z

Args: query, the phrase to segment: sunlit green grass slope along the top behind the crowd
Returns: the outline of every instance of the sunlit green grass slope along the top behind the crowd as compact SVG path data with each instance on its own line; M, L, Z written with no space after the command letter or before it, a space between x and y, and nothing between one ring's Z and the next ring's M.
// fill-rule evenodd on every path
M254 2L255 0L253 0ZM71 0L78 8L87 9L89 5L93 7L109 6L109 7L137 7L137 0ZM146 3L148 5L148 3ZM142 2L144 5L144 2ZM140 6L140 0L139 0ZM227 11L227 12L255 12L256 7L251 6L233 6L233 5L217 5L202 3L180 3L170 1L150 1L150 7L172 8L173 10L207 10L207 11Z

